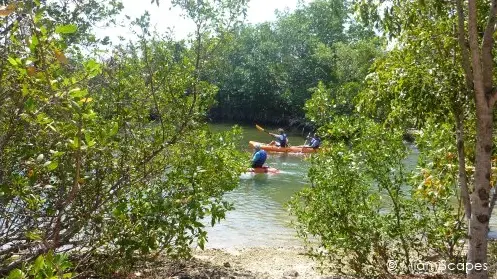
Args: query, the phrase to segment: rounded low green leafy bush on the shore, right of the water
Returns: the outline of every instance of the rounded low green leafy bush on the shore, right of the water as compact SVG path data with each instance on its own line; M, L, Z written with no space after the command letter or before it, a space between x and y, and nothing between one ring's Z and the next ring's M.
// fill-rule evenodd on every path
M419 195L401 133L364 118L352 123L361 123L360 136L327 142L311 158L312 187L290 202L309 255L334 272L366 277L409 273L434 253L453 260L464 232L461 212L449 202L455 190L438 191L437 199ZM351 130L347 122L334 124Z

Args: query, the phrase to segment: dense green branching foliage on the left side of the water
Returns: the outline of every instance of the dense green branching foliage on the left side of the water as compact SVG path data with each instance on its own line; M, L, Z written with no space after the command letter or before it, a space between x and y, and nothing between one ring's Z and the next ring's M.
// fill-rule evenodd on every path
M111 272L203 247L203 220L224 217L223 193L242 170L240 131L213 134L204 122L217 91L200 78L206 30L190 48L151 32L144 15L133 22L138 40L99 62L83 51L100 43L87 24L119 3L3 8L0 274L62 276L67 259Z

